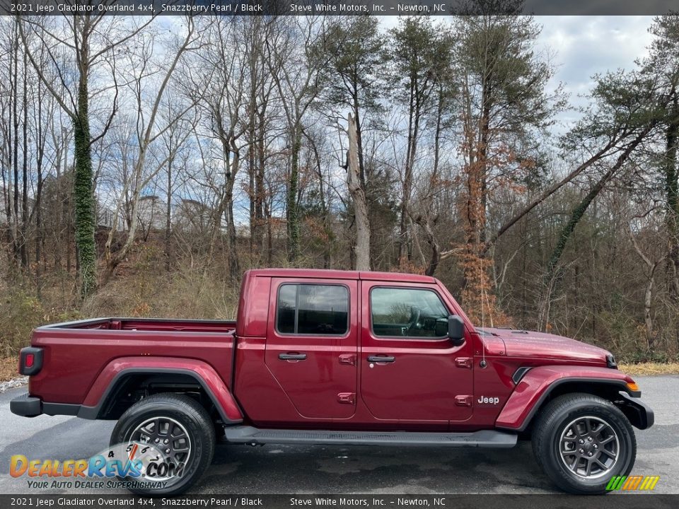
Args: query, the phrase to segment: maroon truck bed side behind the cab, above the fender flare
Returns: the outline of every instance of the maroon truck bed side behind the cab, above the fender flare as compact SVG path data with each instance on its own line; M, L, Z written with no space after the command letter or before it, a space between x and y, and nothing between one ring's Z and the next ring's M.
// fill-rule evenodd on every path
M43 349L44 368L29 392L44 401L83 404L98 375L120 358L162 356L204 361L231 384L235 321L96 318L45 325L31 346Z

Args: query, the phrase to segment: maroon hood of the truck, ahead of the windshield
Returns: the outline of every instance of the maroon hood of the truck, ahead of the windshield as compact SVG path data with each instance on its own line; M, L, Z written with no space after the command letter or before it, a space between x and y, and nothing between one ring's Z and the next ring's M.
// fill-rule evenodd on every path
M607 365L610 353L598 346L576 341L567 337L528 332L514 329L477 328L481 337L491 337L504 341L507 357L549 358L559 361L584 361ZM613 358L613 357L611 357Z

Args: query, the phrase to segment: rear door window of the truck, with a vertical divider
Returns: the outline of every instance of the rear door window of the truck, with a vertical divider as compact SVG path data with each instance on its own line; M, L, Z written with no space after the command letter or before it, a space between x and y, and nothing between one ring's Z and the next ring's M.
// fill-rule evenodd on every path
M344 334L348 318L349 291L346 286L284 284L279 288L279 332Z

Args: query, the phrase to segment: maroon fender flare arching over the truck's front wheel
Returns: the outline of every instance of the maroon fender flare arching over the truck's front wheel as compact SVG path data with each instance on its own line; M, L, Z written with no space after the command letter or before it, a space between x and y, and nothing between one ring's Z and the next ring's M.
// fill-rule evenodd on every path
M564 383L610 385L616 394L624 391L632 396L639 395L627 387L627 383L634 383L634 380L618 370L572 365L539 366L531 368L514 387L495 426L513 431L525 430L542 402Z

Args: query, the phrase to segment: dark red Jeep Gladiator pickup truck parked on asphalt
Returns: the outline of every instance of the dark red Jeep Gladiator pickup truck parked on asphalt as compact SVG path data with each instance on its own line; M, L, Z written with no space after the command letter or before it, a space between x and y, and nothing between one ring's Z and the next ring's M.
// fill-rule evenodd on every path
M47 325L19 370L29 390L13 413L117 420L111 445L139 465L121 477L153 495L189 488L216 443L513 447L522 438L557 486L603 493L634 465L632 426L654 420L608 351L475 327L440 281L412 274L252 270L236 322ZM151 455L141 461L137 450Z

